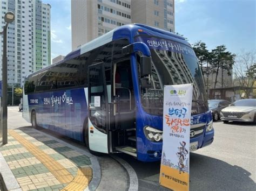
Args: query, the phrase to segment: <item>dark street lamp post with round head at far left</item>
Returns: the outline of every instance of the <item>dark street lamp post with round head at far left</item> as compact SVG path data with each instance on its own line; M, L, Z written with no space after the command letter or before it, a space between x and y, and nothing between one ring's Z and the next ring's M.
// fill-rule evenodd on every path
M2 75L2 128L3 128L3 145L8 142L7 140L7 27L8 24L15 19L13 12L6 12L4 21L6 22L3 32L3 75Z

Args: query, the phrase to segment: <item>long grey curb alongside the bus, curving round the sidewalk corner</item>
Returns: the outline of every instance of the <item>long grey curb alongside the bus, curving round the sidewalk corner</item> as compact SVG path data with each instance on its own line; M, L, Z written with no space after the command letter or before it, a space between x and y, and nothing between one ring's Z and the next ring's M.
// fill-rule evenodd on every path
M50 137L52 139L57 139L56 137L48 135L47 133L44 133L37 129L33 129L33 130L38 131L39 133L42 133L43 135ZM89 183L89 185L87 186L87 188L85 188L84 190L86 190L86 191L96 190L96 188L99 186L100 179L102 178L102 172L101 172L101 169L99 166L99 161L98 161L97 157L95 157L95 155L92 155L91 153L84 151L76 146L70 145L69 143L66 143L63 140L57 139L57 141L59 143L62 143L63 145L66 145L66 146L72 148L73 150L76 150L76 151L86 155L86 157L90 158L91 165L89 165L89 166L92 168L92 180Z

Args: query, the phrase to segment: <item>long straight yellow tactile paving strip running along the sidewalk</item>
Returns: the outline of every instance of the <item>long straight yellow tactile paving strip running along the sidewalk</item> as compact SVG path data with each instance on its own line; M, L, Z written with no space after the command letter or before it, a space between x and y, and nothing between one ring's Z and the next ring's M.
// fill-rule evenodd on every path
M49 171L57 178L61 183L69 183L73 180L73 176L68 170L65 169L59 162L50 157L44 151L37 146L30 143L24 137L14 130L9 130L9 134L18 140L31 154L33 154L42 164L49 169Z

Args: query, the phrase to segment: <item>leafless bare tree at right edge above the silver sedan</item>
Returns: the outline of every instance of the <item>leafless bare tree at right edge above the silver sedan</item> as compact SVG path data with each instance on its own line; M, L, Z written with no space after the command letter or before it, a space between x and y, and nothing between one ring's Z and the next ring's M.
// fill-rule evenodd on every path
M234 63L234 76L239 86L250 89L245 90L246 96L250 95L250 91L256 82L256 53L241 51Z

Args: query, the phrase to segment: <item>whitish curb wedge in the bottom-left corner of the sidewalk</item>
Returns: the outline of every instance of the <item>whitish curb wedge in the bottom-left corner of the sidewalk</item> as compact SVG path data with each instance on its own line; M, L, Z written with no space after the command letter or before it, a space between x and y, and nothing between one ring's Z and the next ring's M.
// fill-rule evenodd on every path
M19 186L14 174L11 172L11 169L7 162L5 161L3 154L0 152L0 181L3 182L4 190L11 191L22 191Z

